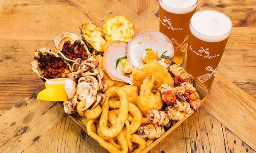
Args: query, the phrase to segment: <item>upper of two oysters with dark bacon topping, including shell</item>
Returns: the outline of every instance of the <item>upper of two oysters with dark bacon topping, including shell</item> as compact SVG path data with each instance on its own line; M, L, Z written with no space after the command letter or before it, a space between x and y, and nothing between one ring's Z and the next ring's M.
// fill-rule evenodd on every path
M77 34L64 32L54 42L58 54L68 61L75 62L77 58L86 60L90 55L87 46Z

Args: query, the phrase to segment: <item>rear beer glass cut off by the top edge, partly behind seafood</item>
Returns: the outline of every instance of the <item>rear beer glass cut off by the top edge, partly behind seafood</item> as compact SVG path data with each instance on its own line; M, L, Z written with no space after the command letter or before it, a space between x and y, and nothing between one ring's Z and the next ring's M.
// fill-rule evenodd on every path
M189 20L198 0L160 0L160 32L172 41L174 62L182 65L188 48Z

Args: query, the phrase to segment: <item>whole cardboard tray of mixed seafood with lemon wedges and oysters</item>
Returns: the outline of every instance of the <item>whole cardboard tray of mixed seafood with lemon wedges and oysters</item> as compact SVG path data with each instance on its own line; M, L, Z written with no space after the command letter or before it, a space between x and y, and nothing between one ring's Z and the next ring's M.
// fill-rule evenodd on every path
M64 32L40 48L32 70L45 81L37 98L64 111L111 153L148 152L202 107L209 94L176 65L172 42L124 16Z

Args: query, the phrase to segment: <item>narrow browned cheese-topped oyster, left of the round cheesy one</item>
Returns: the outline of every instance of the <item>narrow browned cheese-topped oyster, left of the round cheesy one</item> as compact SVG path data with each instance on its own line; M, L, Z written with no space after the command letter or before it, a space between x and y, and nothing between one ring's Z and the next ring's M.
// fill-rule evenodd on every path
M87 45L91 45L96 51L103 52L101 45L106 41L101 27L98 27L95 23L84 23L80 25L80 30Z

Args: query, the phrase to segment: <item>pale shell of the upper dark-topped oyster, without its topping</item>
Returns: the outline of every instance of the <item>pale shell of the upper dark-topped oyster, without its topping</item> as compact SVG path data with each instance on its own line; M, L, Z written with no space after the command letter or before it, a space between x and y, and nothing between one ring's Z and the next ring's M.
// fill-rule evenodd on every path
M68 61L75 62L74 60L65 57L65 55L61 53L61 50L62 50L64 42L67 42L68 40L71 43L74 43L76 40L80 40L80 42L82 44L84 44L84 42L81 40L81 38L77 34L70 33L70 32L64 32L64 33L58 35L54 39L55 48L57 49L58 54L60 54L61 57L63 57L64 59L66 59ZM84 48L87 51L87 53L90 54L89 51L88 51L88 48L87 48L87 46L85 44L84 44Z

